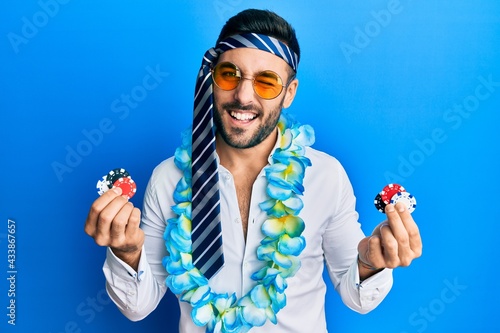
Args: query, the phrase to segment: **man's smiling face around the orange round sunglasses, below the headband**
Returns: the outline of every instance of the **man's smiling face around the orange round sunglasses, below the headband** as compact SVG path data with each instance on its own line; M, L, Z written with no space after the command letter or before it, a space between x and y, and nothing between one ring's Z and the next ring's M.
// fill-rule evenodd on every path
M214 85L214 121L217 132L233 148L254 147L275 130L281 109L290 106L295 97L298 81L293 80L276 98L266 100L255 93L252 79L262 71L272 70L286 85L290 69L283 59L257 49L237 48L224 52L218 62L235 64L244 79L230 91Z

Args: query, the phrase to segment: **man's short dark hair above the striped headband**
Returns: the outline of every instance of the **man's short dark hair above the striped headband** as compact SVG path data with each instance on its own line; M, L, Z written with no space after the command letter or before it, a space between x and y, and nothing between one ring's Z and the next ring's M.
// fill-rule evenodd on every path
M217 39L217 44L223 39L241 33L258 33L279 39L300 60L300 47L293 27L281 16L269 10L247 9L227 20Z

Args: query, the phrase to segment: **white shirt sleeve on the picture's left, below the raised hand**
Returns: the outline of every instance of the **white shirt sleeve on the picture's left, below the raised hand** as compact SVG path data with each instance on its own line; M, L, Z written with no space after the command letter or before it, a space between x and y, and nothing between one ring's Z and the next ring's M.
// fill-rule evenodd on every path
M137 272L116 257L109 248L103 266L108 295L132 321L149 315L167 290L167 272L162 261L168 253L163 233L166 221L173 214L170 210L172 195L169 196L168 193L171 193L174 180L172 177L163 177L163 171L169 162L167 160L155 169L146 188L141 216L145 240Z

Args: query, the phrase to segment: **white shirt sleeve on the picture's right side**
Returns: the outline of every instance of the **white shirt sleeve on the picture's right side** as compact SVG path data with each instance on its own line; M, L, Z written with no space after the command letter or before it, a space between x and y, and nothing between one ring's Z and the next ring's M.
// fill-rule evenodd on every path
M338 197L325 230L323 251L335 290L350 309L365 314L375 309L392 287L392 269L384 269L360 282L358 244L365 237L355 210L356 198L345 170L339 164Z

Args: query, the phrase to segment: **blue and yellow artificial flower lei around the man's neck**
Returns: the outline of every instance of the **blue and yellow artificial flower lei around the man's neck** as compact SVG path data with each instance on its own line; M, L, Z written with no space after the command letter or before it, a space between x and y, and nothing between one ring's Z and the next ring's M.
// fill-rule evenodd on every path
M265 168L269 199L260 203L268 215L261 227L264 238L257 248L263 262L251 278L256 285L239 300L235 293L218 294L192 263L191 243L191 131L183 133L182 145L175 151L174 161L183 177L174 191L177 215L168 220L164 233L169 253L163 265L169 273L166 284L181 301L193 307L191 317L198 326L206 325L208 333L245 333L262 326L269 319L277 323L276 314L286 305L286 278L300 268L298 256L306 246L302 236L305 224L298 216L303 208L304 174L311 161L305 147L314 143L311 126L300 125L282 112L278 128L279 146L272 163Z

